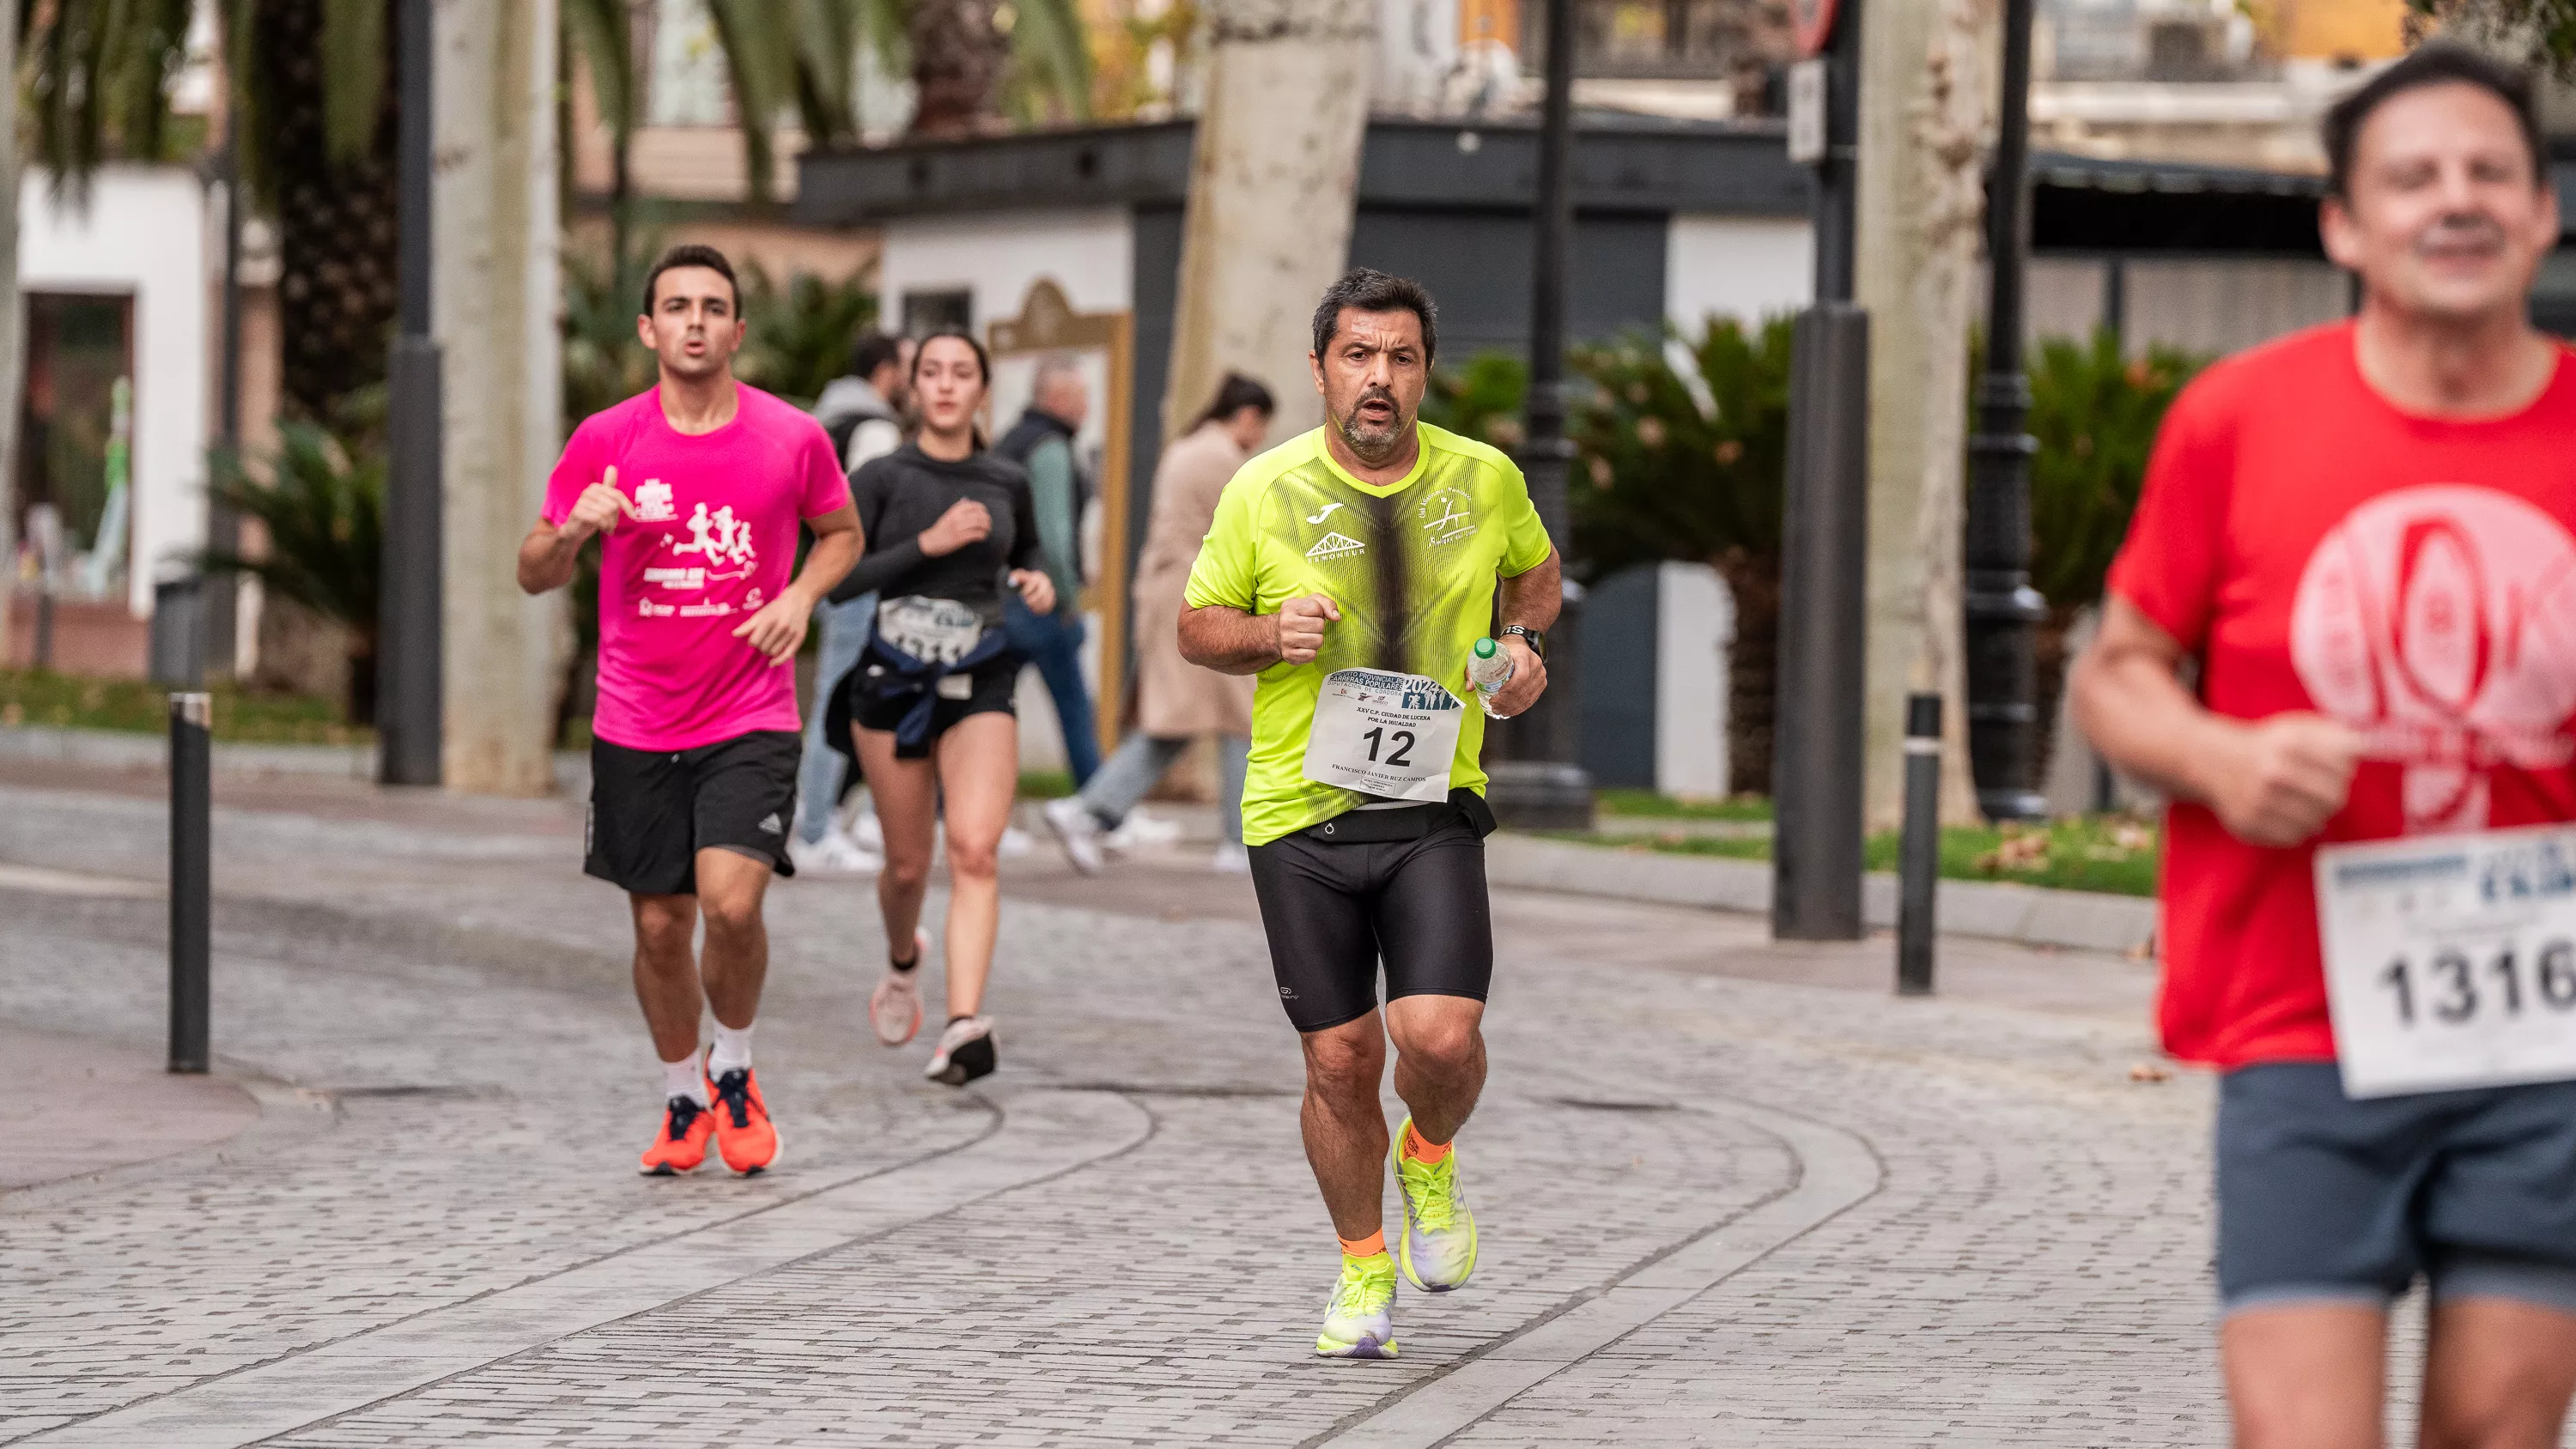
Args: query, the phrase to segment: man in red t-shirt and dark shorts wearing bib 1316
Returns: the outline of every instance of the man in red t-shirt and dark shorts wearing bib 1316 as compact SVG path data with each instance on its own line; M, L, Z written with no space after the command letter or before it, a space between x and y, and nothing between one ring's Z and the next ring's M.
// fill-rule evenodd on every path
M2076 718L2174 800L2159 1014L2166 1050L2226 1073L2239 1444L2380 1444L2388 1310L2424 1277L2424 1444L2553 1446L2576 1387L2576 1014L2555 1017L2563 1071L2385 1089L2378 1019L2347 1011L2468 1029L2481 991L2543 1017L2576 975L2445 952L2409 978L2414 927L2321 919L2499 844L2478 831L2576 818L2576 365L2527 319L2558 206L2530 80L2463 49L2344 98L2326 152L2326 252L2360 317L2174 401Z

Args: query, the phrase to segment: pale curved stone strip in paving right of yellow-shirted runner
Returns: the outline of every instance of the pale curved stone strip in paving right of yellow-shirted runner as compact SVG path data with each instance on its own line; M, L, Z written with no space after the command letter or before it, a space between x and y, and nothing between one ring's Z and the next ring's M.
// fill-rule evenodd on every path
M1690 1107L1736 1117L1780 1138L1798 1163L1798 1181L1620 1274L1597 1297L1497 1341L1396 1403L1345 1428L1324 1431L1298 1449L1432 1449L1520 1392L1716 1289L1878 1192L1878 1153L1842 1127L1726 1096L1703 1096Z

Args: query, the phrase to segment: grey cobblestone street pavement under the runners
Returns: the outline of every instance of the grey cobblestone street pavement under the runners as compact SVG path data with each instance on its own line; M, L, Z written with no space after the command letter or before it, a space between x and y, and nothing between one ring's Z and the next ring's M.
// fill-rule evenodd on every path
M1337 1364L1239 880L1012 862L1005 1066L963 1094L866 1035L868 888L781 883L788 1158L639 1179L659 1076L580 813L301 790L216 816L216 1053L260 1122L0 1197L0 1441L2223 1439L2210 1091L2130 1078L2138 963L1955 942L1899 1001L1886 942L1497 901L1484 1261L1399 1297L1399 1361ZM142 790L0 785L0 865L160 849ZM162 906L44 880L0 872L0 1022L149 1048Z

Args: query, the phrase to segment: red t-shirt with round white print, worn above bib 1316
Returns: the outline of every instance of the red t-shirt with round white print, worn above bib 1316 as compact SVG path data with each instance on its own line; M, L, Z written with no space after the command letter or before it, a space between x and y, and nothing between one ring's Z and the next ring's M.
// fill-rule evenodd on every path
M2316 710L2365 762L2318 842L2576 818L2576 368L2512 417L2411 417L2352 324L2213 365L2174 399L2110 589L2200 656L2200 700ZM2316 844L2262 849L2177 803L2164 1048L2334 1060Z

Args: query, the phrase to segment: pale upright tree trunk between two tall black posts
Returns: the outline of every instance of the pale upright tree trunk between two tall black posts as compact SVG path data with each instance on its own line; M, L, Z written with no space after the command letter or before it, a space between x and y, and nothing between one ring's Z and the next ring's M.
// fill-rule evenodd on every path
M1960 525L1994 0L1873 5L1857 301L1870 309L1868 826L1904 816L1904 710L1942 695L1942 821L1973 824Z

